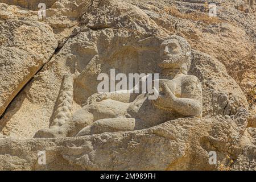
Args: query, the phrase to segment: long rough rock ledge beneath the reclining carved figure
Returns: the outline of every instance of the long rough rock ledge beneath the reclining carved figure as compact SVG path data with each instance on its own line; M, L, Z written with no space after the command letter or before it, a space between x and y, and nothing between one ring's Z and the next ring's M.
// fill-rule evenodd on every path
M240 150L236 143L241 135L236 128L232 119L186 118L125 133L2 139L0 169L229 169ZM218 151L216 165L208 163L212 150ZM38 164L39 151L46 151L46 165Z

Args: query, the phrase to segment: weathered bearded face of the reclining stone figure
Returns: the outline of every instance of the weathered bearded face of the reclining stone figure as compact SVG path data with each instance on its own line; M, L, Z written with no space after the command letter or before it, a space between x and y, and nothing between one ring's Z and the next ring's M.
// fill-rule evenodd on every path
M176 39L164 40L160 45L161 68L180 68L185 63L186 55Z

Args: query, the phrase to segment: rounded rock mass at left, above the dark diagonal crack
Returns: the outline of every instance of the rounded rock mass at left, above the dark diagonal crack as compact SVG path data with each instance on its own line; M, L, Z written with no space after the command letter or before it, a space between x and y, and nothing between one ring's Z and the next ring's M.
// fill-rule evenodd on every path
M48 62L56 47L54 34L46 24L26 19L1 21L0 115Z

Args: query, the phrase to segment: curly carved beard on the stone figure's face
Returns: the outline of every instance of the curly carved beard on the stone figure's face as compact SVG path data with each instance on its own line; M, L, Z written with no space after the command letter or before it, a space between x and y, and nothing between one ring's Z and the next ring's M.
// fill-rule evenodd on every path
M162 62L159 63L160 68L181 68L181 65L185 63L186 55L166 55L162 57Z

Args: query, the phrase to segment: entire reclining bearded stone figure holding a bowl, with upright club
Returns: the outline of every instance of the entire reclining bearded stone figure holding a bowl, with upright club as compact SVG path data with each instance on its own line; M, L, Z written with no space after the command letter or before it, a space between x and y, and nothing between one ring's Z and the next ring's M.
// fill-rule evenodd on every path
M191 59L187 40L170 36L160 45L158 66L162 71L156 100L148 100L148 94L95 93L72 117L68 105L73 102L73 81L72 76L66 76L51 127L39 130L35 137L133 131L177 118L201 117L201 83L196 76L188 75Z

